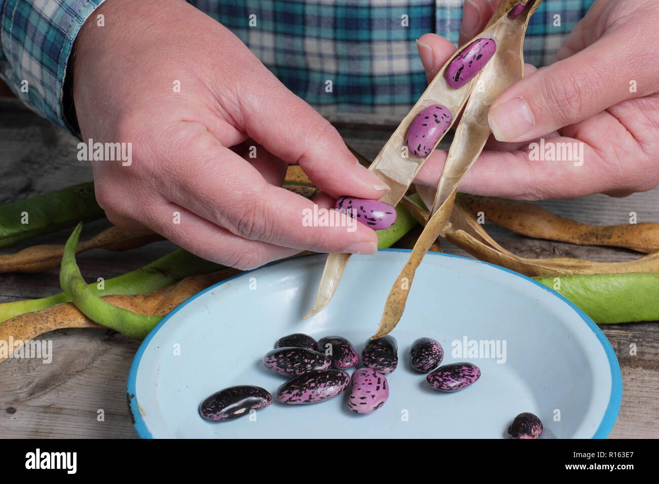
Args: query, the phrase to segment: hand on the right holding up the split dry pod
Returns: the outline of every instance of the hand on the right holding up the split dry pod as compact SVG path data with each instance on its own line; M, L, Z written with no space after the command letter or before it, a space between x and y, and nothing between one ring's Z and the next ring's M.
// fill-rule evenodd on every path
M481 32L492 13L487 0L467 0L461 43ZM494 101L489 111L494 136L459 189L542 200L626 196L657 186L658 30L654 0L596 0L552 65L537 70L527 65L527 76ZM429 78L455 52L435 34L418 43ZM561 144L583 147L583 158L539 161L539 143L529 144L538 138L557 153L567 146ZM445 159L445 151L436 150L417 182L436 186Z

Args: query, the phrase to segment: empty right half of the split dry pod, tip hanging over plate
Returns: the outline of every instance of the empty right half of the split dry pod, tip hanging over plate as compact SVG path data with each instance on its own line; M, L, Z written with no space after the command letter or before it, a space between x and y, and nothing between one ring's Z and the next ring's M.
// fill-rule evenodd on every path
M373 339L387 335L400 321L415 277L416 268L430 246L445 229L453 209L457 187L478 158L478 155L480 155L490 136L490 125L487 119L490 105L498 95L524 76L524 55L522 51L524 36L529 16L538 8L540 1L535 1L529 9L525 9L514 20L507 18L510 9L519 3L519 1L514 0L501 0L496 13L488 22L485 30L465 44L469 45L478 38L492 38L496 41L497 49L492 59L470 82L470 84L476 83L479 86L484 86L484 88L471 89L470 86L471 95L457 125L444 164L436 198L430 210L431 217L416 241L407 263L405 263L399 277L391 287L380 319L380 326L376 333L371 336ZM437 78L442 78L444 84L444 70L459 52L457 51L449 59L437 76ZM451 88L445 85L445 89L450 90Z

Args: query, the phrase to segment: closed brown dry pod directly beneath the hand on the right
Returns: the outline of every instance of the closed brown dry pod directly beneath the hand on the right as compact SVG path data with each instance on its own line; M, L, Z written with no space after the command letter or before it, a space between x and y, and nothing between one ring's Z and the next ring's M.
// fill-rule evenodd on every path
M556 215L538 205L503 198L463 194L459 203L470 213L517 234L583 246L623 247L650 254L659 251L659 223L588 225Z

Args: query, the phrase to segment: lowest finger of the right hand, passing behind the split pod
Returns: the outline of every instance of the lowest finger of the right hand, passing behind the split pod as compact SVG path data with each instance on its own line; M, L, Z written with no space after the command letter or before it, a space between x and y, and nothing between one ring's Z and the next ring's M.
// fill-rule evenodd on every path
M528 146L519 151L483 151L459 190L512 200L544 200L607 192L619 183L621 175L587 144L564 137L550 138L545 143L546 147L569 144L576 150L575 161L540 161L530 155ZM581 154L579 147L583 147ZM437 186L445 160L445 151L435 151L416 181Z

